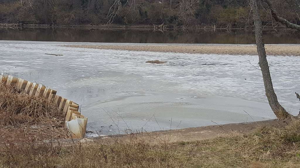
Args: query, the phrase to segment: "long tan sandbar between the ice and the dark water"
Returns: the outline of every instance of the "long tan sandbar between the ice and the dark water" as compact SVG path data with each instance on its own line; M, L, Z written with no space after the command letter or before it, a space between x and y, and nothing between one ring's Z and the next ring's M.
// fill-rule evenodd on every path
M127 51L154 51L189 54L257 55L255 45L64 45ZM267 55L300 56L300 45L265 45Z

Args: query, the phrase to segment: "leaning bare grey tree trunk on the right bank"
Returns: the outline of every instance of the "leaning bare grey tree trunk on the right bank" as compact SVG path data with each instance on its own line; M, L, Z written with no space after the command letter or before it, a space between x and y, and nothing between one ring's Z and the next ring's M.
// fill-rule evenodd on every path
M265 94L268 98L269 105L271 106L271 109L273 110L276 117L278 119L285 119L289 117L290 114L288 114L286 110L279 104L277 100L277 96L274 92L268 60L265 54L265 44L263 42L263 37L262 37L262 22L260 20L260 16L258 13L256 0L251 0L251 5L253 10L255 39L256 39L256 46L257 46L257 53L259 57L259 66L262 71L262 78L265 85Z

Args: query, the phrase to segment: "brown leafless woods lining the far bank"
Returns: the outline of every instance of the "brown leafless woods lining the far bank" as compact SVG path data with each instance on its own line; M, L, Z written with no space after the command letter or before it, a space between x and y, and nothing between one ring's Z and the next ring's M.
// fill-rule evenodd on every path
M0 22L27 24L161 24L236 28L251 27L248 0L0 0ZM273 0L277 13L292 23L300 20L286 1ZM263 6L264 4L262 4ZM268 7L264 25L276 26Z

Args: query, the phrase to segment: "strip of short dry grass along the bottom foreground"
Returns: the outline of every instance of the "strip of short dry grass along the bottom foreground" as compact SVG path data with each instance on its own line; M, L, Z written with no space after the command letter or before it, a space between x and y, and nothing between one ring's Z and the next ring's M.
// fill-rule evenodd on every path
M168 143L7 143L0 167L296 168L300 165L300 120L264 126L244 136Z

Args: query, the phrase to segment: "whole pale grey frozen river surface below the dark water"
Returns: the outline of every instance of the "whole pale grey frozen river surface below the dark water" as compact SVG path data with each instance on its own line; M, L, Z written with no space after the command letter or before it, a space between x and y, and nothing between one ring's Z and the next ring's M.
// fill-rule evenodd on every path
M274 118L257 56L61 46L65 44L104 43L0 41L0 70L43 83L79 103L88 117L88 130L97 134ZM153 59L168 62L145 63ZM278 100L298 114L300 57L268 56L268 60Z

